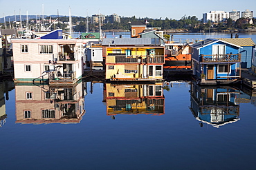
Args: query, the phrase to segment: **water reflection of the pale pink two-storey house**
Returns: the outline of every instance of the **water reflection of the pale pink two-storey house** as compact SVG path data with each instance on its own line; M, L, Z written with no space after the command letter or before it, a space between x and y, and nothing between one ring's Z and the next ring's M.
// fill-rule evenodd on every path
M16 123L80 123L84 115L83 83L67 86L17 85Z

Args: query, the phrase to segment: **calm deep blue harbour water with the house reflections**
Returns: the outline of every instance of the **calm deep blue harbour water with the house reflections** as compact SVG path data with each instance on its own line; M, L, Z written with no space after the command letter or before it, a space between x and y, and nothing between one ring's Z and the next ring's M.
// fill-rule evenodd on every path
M256 94L244 87L0 88L3 170L255 169Z

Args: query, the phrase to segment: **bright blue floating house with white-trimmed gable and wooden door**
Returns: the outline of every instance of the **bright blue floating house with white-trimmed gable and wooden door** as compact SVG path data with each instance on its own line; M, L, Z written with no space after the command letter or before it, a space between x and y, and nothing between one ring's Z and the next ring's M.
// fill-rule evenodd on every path
M241 78L241 46L218 39L205 39L190 47L193 76L199 84L229 84Z

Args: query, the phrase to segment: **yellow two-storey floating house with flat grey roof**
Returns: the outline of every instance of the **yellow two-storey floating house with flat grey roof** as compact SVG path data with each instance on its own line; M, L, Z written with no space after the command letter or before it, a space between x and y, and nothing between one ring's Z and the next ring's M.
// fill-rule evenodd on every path
M162 81L164 47L159 39L103 39L109 81Z

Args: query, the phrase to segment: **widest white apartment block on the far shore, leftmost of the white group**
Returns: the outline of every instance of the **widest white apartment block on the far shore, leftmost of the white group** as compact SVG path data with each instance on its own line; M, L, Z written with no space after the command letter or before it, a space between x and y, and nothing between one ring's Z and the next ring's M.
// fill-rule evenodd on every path
M225 11L210 11L203 14L203 23L212 21L214 23L223 22L228 19L229 13Z

